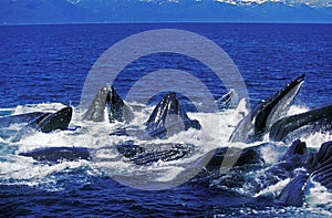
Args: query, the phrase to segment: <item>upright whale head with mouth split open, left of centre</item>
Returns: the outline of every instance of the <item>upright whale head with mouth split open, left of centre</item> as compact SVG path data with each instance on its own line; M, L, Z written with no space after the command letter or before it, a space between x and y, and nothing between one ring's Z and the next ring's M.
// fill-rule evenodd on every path
M104 111L106 107L110 123L116 121L131 123L134 120L134 112L131 106L121 98L113 85L111 87L104 86L97 92L83 115L83 120L93 122L105 121Z

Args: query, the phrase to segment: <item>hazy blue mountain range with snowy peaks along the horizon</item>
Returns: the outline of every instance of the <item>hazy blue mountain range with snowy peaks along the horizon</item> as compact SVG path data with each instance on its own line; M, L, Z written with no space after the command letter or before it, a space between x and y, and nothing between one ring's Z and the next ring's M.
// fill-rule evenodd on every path
M0 4L0 24L332 22L331 0L1 0Z

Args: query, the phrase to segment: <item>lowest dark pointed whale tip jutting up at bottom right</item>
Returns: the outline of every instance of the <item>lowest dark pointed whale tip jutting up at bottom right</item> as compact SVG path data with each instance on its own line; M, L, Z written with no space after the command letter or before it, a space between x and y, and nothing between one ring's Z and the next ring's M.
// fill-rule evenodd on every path
M304 189L309 175L302 173L293 178L288 186L281 191L277 203L282 206L301 207L304 201Z

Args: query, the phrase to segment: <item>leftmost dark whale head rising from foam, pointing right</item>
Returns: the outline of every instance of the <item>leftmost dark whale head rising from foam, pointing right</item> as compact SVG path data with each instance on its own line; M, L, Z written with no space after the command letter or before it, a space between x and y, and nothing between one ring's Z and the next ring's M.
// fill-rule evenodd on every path
M64 131L72 120L72 114L73 108L71 106L63 107L55 113L43 113L21 128L12 142L17 143L22 136L35 131L42 133L51 133L56 129Z

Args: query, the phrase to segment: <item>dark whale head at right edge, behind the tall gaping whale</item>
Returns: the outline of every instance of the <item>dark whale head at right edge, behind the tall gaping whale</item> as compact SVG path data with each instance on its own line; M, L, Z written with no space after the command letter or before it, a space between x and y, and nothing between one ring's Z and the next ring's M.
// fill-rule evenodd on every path
M271 141L284 141L292 133L297 133L298 137L301 133L305 133L308 128L310 133L331 131L332 105L321 106L277 121L271 126L269 137Z

